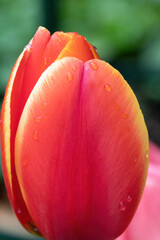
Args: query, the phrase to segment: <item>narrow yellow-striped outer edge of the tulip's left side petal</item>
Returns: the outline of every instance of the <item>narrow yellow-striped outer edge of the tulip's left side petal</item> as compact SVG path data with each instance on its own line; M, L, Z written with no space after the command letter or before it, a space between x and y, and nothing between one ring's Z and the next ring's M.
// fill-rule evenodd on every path
M15 66L12 70L12 73L9 78L7 85L4 102L1 110L1 154L2 154L2 168L4 180L8 192L8 197L10 203L22 225L31 233L39 235L38 231L35 231L35 226L33 220L26 208L25 202L23 200L19 184L17 181L17 176L15 173L14 157L13 157L13 148L14 143L12 141L13 134L15 134L15 129L11 125L11 95L14 85L14 79L18 74L18 71L21 71L26 61L28 59L29 51L26 49L17 59ZM12 126L12 129L11 129Z

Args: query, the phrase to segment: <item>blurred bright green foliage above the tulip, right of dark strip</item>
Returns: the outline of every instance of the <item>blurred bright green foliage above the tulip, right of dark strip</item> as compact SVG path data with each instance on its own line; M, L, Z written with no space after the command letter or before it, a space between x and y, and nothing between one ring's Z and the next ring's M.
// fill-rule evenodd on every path
M160 1L62 0L61 29L78 31L98 46L103 59L135 52L158 30Z

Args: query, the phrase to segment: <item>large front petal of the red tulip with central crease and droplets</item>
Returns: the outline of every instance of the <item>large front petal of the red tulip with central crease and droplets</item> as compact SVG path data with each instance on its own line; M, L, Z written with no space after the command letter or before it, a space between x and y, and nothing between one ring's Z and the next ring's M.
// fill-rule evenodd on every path
M64 58L33 89L15 143L26 205L46 239L114 239L131 220L148 166L137 100L109 64Z

